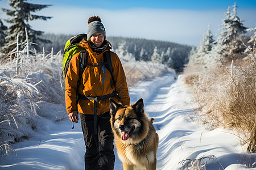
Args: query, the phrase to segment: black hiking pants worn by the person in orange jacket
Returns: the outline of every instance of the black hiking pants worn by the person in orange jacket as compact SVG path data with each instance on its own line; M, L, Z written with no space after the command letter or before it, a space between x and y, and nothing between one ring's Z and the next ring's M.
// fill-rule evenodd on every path
M114 134L110 125L109 112L97 116L97 135L93 133L93 115L80 114L86 152L85 170L113 170Z

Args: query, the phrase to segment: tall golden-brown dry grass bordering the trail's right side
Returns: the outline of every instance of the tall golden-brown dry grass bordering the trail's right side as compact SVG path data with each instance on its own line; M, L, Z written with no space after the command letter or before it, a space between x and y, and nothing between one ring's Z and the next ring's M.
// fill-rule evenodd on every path
M255 44L254 44L255 46ZM256 57L237 59L212 68L188 66L185 83L200 104L199 121L208 129L224 127L241 133L247 150L256 152Z

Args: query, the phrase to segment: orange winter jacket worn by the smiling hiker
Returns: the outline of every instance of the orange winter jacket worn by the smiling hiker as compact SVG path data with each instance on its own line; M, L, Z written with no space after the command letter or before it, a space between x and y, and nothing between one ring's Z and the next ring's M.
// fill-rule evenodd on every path
M103 52L97 54L93 52L88 43L80 44L88 52L88 63L103 63ZM105 51L110 50L110 47ZM112 88L112 76L108 69L105 69L105 80L103 83L104 71L101 66L86 66L82 74L78 93L87 97L96 97L111 94L116 91L123 105L130 105L129 91L126 83L125 72L123 71L122 63L117 54L111 53L113 76L115 86ZM69 64L67 76L65 78L65 103L67 112L79 111L83 114L93 114L94 100L79 100L76 103L77 81L79 79L79 53L75 54ZM115 101L115 97L112 97ZM109 111L109 99L100 100L97 104L97 114L103 114Z

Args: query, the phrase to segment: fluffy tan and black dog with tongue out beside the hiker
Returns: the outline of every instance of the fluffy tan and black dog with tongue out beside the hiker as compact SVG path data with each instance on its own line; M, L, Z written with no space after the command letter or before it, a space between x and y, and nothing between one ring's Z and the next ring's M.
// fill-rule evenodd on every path
M156 169L158 134L151 120L144 113L143 99L130 107L110 99L110 122L117 154L124 170Z

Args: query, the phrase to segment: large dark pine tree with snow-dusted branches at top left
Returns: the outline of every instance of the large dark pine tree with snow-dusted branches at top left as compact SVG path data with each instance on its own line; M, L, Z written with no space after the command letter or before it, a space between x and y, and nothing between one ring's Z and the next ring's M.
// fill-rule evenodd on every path
M6 20L7 23L10 23L5 39L7 42L6 49L12 49L14 47L11 44L16 41L16 36L18 33L20 42L26 40L25 28L27 28L28 39L30 42L49 42L48 40L39 38L39 36L42 35L43 32L35 31L34 29L32 29L28 24L28 21L36 19L51 19L52 17L49 16L39 16L31 14L31 12L40 11L43 8L49 7L51 5L37 5L28 3L26 0L9 0L9 5L13 8L13 10L2 8L3 12L5 12L6 15L11 16L11 18Z

